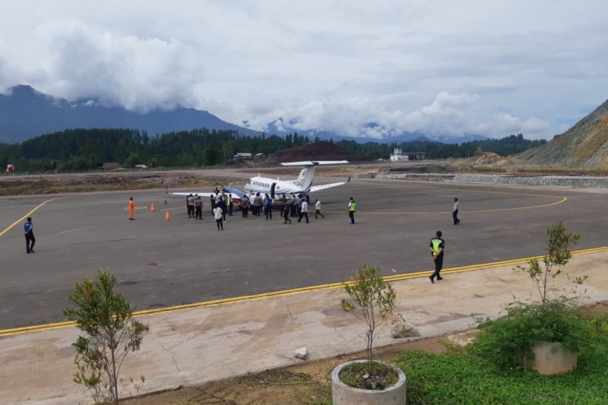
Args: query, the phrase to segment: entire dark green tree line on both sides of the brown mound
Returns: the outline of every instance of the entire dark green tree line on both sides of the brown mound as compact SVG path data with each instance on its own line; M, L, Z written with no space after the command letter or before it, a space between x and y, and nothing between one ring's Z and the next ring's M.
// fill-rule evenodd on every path
M316 137L288 134L244 136L237 131L193 129L150 136L136 129L68 129L41 135L18 144L0 144L0 165L14 164L18 171L87 170L105 162L125 167L144 164L152 168L213 166L231 162L237 152L272 154L321 140ZM331 143L348 153L369 160L387 159L395 148L404 152L426 152L426 157L469 157L480 151L510 155L545 143L527 140L522 134L502 139L465 143L440 143L417 140L402 143L358 143L340 140Z

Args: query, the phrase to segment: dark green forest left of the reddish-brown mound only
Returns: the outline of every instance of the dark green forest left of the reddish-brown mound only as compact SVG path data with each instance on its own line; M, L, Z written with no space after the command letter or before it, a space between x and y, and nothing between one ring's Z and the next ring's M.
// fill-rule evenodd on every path
M18 171L86 170L105 162L125 167L213 166L230 162L237 152L271 154L309 143L289 134L250 137L237 131L193 129L150 136L136 129L68 129L19 144L0 144L0 165Z

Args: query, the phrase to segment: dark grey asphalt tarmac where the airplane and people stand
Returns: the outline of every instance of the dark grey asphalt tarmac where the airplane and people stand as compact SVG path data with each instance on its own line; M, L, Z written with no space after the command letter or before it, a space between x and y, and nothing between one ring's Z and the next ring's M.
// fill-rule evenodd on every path
M157 212L138 209L128 220L129 196L136 206L154 203ZM355 225L346 213L350 196ZM0 233L56 197L1 198ZM461 202L458 226L450 212L454 197ZM431 270L428 245L437 230L446 239L445 268L541 254L545 229L560 219L582 234L577 248L606 245L598 217L608 195L601 192L354 179L315 198L325 219L313 214L310 223L283 225L278 212L265 220L235 211L224 231L216 231L207 200L197 221L187 218L181 197L162 190L49 202L32 214L35 254L26 254L22 221L0 236L0 328L63 320L74 283L96 268L109 267L118 290L147 309L343 281L363 264L380 265L384 274Z

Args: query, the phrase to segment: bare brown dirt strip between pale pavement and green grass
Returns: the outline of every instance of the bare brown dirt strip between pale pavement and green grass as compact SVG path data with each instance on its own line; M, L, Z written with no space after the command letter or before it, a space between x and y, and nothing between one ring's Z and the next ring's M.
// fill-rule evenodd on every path
M598 302L581 308L584 316L608 313L608 301ZM376 358L391 362L399 350L425 350L443 354L446 347L442 342L465 345L474 339L475 330L451 333L435 338L382 347ZM338 364L350 359L364 358L365 352L351 353L319 361L302 362L295 366L277 370L214 381L196 387L179 387L173 391L131 398L122 401L124 405L330 405L331 371ZM272 398L269 401L269 398Z

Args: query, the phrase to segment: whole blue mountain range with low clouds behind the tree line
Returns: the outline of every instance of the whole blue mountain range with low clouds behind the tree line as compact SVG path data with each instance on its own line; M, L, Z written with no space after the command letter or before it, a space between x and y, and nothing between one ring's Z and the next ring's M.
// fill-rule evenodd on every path
M350 132L328 129L302 129L304 123L297 119L272 121L266 133L286 135L298 132L309 138L323 140L356 140L403 142L412 140L434 140L441 142L465 142L483 139L480 135L428 135L423 132L395 131L382 124L370 122L361 125L357 136ZM247 127L244 122L244 127ZM129 111L123 107L108 107L97 100L68 101L46 95L30 86L12 87L8 95L0 94L0 142L21 142L50 132L72 128L133 128L148 134L163 134L171 131L188 131L193 128L230 129L245 135L261 135L261 132L220 120L207 111L177 106L172 110L152 109L147 112Z

